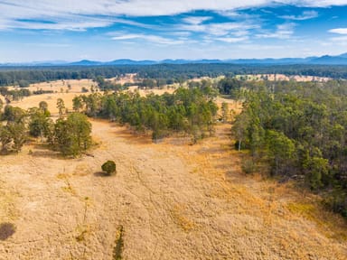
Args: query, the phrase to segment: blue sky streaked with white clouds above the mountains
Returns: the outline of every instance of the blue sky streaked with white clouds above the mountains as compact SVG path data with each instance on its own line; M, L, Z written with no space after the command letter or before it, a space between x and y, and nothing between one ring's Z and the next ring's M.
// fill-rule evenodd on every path
M0 62L347 52L347 0L0 0Z

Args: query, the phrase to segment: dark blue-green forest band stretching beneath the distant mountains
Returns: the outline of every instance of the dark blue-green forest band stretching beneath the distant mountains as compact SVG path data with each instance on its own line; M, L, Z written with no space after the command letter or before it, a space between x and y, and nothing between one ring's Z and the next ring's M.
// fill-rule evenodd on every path
M139 79L155 79L156 85L182 83L187 79L221 75L285 74L347 79L347 67L337 65L241 65L227 63L156 64L68 67L0 67L0 86L18 85L59 79L105 79L126 73L137 73Z

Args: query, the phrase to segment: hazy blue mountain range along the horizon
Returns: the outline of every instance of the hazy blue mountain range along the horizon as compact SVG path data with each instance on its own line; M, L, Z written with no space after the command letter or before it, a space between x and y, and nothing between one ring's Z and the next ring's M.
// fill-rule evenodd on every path
M347 65L347 53L338 56L324 55L321 57L283 58L283 59L238 59L238 60L80 60L68 62L63 60L36 61L27 63L0 63L0 67L33 67L33 66L119 66L119 65L155 65L155 64L206 64L231 63L254 65L290 65L290 64L316 64L316 65Z

